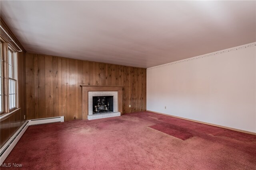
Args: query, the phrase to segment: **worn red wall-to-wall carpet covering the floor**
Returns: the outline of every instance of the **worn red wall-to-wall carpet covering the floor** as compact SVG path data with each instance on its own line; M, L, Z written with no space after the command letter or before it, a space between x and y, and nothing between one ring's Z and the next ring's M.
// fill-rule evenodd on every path
M4 163L31 170L255 170L256 136L139 112L30 126Z

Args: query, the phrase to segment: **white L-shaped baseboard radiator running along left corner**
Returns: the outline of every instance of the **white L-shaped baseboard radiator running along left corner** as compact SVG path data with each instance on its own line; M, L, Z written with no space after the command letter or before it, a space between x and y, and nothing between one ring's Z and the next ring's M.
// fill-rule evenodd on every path
M27 120L25 123L10 137L10 139L4 144L4 146L0 149L0 165L4 162L7 156L10 154L12 149L18 143L24 132L27 130L28 126L31 125L42 125L46 123L57 123L57 122L64 122L64 116L59 117L50 117L50 118L43 118L43 119L32 119Z

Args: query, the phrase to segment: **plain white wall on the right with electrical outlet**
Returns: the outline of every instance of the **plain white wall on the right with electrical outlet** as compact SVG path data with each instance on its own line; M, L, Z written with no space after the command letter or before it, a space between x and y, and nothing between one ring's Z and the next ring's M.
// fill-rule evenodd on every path
M148 68L147 110L256 132L256 43Z

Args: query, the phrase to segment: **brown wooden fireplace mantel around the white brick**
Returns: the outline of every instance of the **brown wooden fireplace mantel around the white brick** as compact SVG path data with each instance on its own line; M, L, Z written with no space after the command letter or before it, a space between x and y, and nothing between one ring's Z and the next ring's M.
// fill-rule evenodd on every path
M122 86L91 86L91 85L80 85L82 87L82 119L88 119L88 92L104 92L112 91L118 92L118 111L123 113L122 97L123 88Z

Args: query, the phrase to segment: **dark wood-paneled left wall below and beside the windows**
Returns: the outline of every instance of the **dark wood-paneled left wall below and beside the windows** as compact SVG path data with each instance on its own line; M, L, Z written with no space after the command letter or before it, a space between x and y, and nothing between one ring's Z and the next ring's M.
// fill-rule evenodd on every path
M25 53L18 53L18 110L12 112L10 116L0 119L0 147L2 147L10 137L25 122L26 115L26 69L25 69Z

